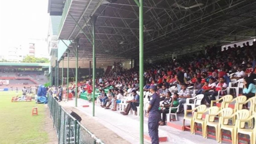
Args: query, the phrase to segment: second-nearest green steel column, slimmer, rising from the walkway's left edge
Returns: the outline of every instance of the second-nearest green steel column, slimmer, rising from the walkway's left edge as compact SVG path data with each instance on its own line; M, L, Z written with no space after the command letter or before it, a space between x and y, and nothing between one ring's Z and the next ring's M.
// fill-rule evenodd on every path
M95 106L95 71L96 71L96 58L95 58L95 22L96 17L92 17L92 60L93 60L93 69L92 69L92 116L94 116L94 106Z

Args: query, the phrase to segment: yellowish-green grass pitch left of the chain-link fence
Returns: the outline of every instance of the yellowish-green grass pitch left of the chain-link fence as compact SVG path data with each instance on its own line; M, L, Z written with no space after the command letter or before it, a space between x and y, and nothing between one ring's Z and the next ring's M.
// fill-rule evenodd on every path
M21 95L21 93L20 93ZM44 130L43 104L11 102L15 92L0 92L0 144L44 144L48 134ZM32 116L32 108L38 107L38 115Z

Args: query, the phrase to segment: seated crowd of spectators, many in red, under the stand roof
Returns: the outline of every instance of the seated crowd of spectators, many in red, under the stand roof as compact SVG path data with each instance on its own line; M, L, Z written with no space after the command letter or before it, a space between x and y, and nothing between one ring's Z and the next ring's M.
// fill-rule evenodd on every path
M161 113L168 113L169 107L178 105L179 113L182 113L184 111L182 104L186 103L186 98L193 96L190 89L198 90L195 94L204 94L202 103L210 104L211 100L215 100L219 90L228 87L231 82L228 74L231 73L234 73L232 78L245 78L241 94L247 98L255 96L256 42L253 42L252 46L249 43L243 44L243 47L234 45L232 48L228 47L227 50L224 48L224 51L208 47L206 54L188 55L186 58L165 60L145 66L143 89L149 91L150 86L157 86L157 94L163 101ZM109 86L113 86L113 89L109 89L108 93L105 93L104 89ZM176 89L172 89L174 91L170 93L169 88L173 86ZM128 70L117 66L106 76L97 79L96 87L101 91L101 96L98 98L102 102L102 107L110 109L111 103L113 103L112 110L116 110L117 103L121 103L121 100L131 96L132 99L126 101L128 105L125 111L121 113L127 115L131 108L137 112L136 106L139 106L140 98L137 93L139 90L137 70ZM225 91L222 91L220 96L225 94ZM107 103L108 105L106 105ZM165 124L165 117L163 116L161 125Z

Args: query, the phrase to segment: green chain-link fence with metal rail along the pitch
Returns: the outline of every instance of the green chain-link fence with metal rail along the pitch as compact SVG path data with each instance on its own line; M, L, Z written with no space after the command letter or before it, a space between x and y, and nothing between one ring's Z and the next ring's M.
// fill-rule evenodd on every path
M104 144L48 95L48 108L59 144Z

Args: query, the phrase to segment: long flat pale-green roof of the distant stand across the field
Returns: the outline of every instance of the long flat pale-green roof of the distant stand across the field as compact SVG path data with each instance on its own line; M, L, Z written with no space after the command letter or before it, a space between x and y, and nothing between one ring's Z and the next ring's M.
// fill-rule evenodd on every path
M42 68L49 67L49 63L11 63L11 62L0 62L0 66L11 66L11 67L29 67L29 68Z

